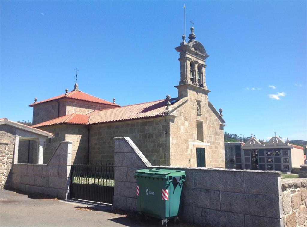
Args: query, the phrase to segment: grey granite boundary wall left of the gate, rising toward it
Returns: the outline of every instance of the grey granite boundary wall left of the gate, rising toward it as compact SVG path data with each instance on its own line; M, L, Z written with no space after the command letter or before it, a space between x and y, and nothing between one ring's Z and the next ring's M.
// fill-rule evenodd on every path
M60 142L47 164L13 164L12 188L69 198L72 142Z

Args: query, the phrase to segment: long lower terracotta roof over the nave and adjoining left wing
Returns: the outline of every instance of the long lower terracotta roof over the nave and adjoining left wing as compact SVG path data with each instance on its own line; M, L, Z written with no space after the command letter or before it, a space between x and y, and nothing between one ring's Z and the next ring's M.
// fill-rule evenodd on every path
M173 102L176 98L172 98ZM159 117L166 108L166 99L153 102L139 103L129 106L120 106L104 110L95 110L89 114L69 114L50 121L45 121L32 127L42 127L57 124L90 125L97 123L126 121L133 119ZM173 102L175 103L175 102Z

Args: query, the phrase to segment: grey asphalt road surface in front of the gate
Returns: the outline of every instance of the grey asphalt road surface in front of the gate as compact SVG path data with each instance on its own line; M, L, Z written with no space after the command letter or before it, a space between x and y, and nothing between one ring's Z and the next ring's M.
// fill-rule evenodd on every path
M0 226L150 226L116 214L111 205L91 205L35 198L0 190ZM157 226L157 225L156 225Z

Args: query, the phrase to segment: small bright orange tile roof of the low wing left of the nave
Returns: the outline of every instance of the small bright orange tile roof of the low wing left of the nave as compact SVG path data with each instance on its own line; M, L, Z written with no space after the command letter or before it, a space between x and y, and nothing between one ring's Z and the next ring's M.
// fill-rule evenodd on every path
M36 125L32 125L31 127L37 128L48 125L58 125L58 124L77 124L77 125L87 125L88 124L88 116L84 114L68 114L63 117L58 117L52 119L50 121L45 121Z

